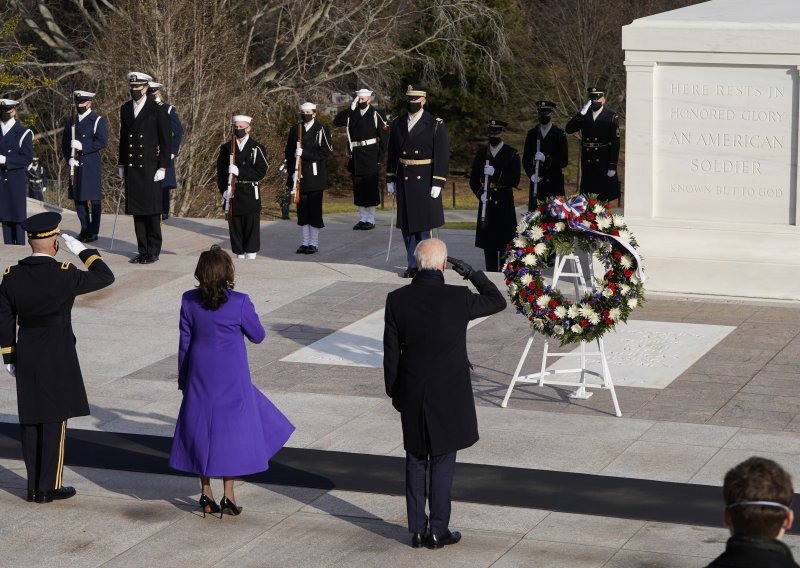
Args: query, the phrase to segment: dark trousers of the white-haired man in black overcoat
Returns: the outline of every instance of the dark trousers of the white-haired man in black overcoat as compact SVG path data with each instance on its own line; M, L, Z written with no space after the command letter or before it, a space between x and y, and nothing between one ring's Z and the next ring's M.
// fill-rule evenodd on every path
M426 497L430 505L430 530L436 536L447 532L450 525L450 500L456 452L440 456L415 456L406 452L406 511L408 532L425 534L428 517ZM430 468L430 488L426 490L426 471Z

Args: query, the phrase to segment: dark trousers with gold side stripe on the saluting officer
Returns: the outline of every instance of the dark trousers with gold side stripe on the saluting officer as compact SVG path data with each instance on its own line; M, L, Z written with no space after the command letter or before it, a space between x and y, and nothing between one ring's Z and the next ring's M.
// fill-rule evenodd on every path
M61 489L67 421L20 424L29 491Z

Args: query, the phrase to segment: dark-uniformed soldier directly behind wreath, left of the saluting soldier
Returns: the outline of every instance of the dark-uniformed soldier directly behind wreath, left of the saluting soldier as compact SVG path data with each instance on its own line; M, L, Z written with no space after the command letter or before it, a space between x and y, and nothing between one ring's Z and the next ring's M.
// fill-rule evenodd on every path
M528 211L536 208L537 200L564 195L564 172L569 163L567 135L553 124L556 103L536 101L539 124L528 131L522 151L522 167L531 180ZM536 164L539 164L537 175Z

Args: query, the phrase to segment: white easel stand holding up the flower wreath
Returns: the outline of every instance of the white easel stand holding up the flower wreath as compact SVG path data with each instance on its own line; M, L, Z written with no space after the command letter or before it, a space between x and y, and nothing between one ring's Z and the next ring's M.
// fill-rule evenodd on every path
M566 264L570 262L572 264L573 271L572 272L565 272ZM556 264L555 270L553 271L553 288L558 286L558 280L562 277L572 278L573 284L575 285L575 298L576 301L581 297L581 293L588 289L586 284L586 279L583 276L583 270L581 269L580 262L578 256L575 254L568 254L568 255L558 255L556 256ZM594 282L594 268L592 266L592 259L589 258L589 282ZM542 352L542 364L541 369L538 373L531 373L529 375L520 375L522 371L522 366L525 364L525 360L528 358L528 352L531 349L531 345L533 344L534 334L536 332L531 330L531 335L528 338L528 343L525 345L525 350L522 352L522 357L517 364L517 369L514 371L514 376L511 378L511 384L508 385L508 390L506 391L506 396L503 399L503 402L500 404L503 408L508 405L508 399L511 398L511 391L514 390L514 385L517 383L523 384L535 384L540 387L545 385L554 385L554 386L563 386L563 387L576 387L577 390L569 393L570 398L582 398L586 399L592 396L592 394L586 389L608 389L611 392L611 400L614 402L614 414L618 417L622 416L622 412L619 409L619 403L617 402L617 393L614 390L614 383L611 380L611 372L608 369L608 360L606 359L606 349L605 345L603 344L602 338L598 338L595 341L597 342L597 351L587 351L586 350L586 342L581 341L580 343L580 351L578 353L550 353L548 351L548 344L545 340L544 342L544 351ZM548 357L580 357L581 366L577 369L547 369L547 359ZM598 357L600 359L602 372L598 373L596 371L591 371L586 368L586 359ZM565 374L579 374L580 378L577 381L560 381L560 380L550 380L547 377L551 375L565 375ZM600 382L588 382L587 375L593 375L600 379Z

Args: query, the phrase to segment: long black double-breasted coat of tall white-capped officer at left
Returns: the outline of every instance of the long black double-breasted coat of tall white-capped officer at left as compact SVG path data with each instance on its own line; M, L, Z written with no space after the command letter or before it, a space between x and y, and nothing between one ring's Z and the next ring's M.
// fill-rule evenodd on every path
M138 116L133 101L119 110L119 161L125 166L125 213L161 215L164 208L156 171L170 165L172 126L167 106L148 96Z

